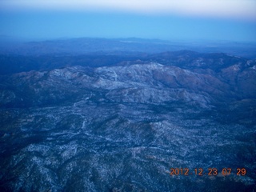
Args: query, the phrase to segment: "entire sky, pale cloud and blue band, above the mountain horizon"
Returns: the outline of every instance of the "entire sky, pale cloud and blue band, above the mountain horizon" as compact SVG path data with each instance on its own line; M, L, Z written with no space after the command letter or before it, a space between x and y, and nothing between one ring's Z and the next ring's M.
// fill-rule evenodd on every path
M256 0L1 0L0 36L256 42Z

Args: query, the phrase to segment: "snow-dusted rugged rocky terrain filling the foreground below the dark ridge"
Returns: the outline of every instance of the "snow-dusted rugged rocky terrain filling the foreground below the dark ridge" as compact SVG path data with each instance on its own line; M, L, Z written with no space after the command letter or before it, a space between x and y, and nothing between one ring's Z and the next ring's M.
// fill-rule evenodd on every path
M1 191L256 190L253 60L166 52L0 79Z

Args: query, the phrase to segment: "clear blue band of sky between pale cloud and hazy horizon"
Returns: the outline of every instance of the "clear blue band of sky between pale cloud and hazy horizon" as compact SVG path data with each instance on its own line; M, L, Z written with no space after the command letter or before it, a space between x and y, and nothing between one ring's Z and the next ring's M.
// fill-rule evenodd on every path
M256 42L253 20L120 11L2 10L0 34L52 38L160 38Z

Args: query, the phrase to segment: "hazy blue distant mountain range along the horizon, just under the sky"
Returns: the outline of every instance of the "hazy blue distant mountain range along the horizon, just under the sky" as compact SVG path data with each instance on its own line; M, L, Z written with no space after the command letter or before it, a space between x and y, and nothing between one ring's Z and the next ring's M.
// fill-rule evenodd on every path
M8 41L7 41L8 42ZM142 38L66 38L38 42L0 43L0 54L155 54L166 51L194 50L256 58L253 42L177 42Z

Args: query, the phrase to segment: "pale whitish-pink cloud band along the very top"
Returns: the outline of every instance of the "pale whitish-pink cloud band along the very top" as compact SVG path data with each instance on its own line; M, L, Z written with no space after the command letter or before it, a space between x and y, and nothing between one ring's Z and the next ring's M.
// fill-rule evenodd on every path
M117 10L138 14L182 14L256 21L255 0L1 0L2 9Z

